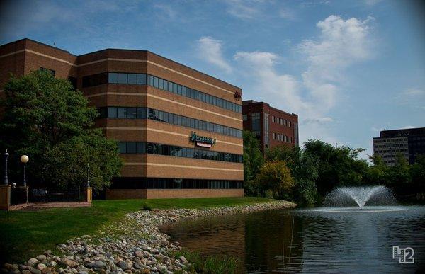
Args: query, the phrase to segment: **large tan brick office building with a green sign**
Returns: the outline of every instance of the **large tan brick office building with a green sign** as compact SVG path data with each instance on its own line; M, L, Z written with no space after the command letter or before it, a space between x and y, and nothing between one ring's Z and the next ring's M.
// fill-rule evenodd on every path
M146 50L85 55L23 39L0 46L9 74L48 69L96 106L125 164L106 198L243 196L242 90Z

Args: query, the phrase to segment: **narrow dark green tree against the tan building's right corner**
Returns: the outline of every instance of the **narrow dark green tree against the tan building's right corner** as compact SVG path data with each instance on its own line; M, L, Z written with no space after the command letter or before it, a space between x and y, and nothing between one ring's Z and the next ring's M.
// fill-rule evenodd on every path
M260 149L260 142L254 133L244 130L244 188L249 196L261 195L260 185L255 178L263 166L264 157Z

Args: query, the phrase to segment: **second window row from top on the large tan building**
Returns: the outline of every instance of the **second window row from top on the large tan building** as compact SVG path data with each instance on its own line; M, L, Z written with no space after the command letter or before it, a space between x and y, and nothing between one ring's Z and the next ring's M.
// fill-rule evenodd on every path
M242 138L242 130L237 130L233 127L226 127L225 125L217 125L212 122L188 118L174 113L167 113L162 110L154 110L152 108L105 107L98 108L98 110L101 114L101 118L151 119L168 122L173 125L191 127L196 130L205 130L222 135Z

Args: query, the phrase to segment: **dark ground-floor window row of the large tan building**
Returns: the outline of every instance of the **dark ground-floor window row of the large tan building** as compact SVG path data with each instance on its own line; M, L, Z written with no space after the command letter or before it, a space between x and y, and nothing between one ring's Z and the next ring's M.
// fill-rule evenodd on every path
M111 188L119 189L232 189L244 188L243 181L200 180L175 178L114 178Z

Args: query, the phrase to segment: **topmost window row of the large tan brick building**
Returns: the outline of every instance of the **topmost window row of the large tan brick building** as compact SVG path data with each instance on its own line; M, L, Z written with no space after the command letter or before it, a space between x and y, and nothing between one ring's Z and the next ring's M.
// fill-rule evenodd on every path
M135 73L117 73L117 72L105 72L101 74L95 74L83 77L83 87L97 86L101 84L137 84L137 85L149 85L154 86L157 89L163 89L172 93L179 94L193 98L204 103L216 105L220 108L232 110L237 113L242 113L242 105L233 103L222 98L212 96L196 89L188 88L171 81L152 76L149 74L135 74Z

